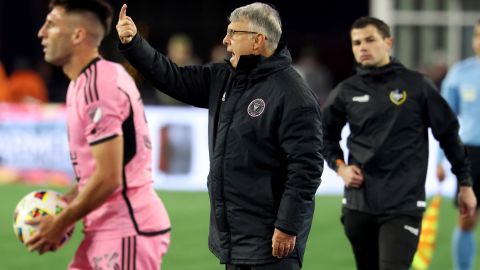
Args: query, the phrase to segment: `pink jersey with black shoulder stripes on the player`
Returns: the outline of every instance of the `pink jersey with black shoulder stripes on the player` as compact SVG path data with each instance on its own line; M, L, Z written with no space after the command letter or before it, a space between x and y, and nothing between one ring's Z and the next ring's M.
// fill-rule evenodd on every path
M152 188L151 144L142 99L125 69L102 58L88 64L67 93L67 125L81 192L95 171L91 146L123 135L123 185L84 217L86 233L157 235L170 220Z

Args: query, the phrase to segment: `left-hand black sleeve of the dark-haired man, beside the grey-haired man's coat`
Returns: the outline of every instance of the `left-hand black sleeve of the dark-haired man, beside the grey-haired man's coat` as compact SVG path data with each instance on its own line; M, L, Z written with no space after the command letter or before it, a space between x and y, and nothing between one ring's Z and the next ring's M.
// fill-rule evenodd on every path
M347 123L346 110L344 102L341 99L341 89L343 84L339 84L328 96L322 110L323 114L323 154L330 168L336 171L336 160L344 160L343 150L340 147L342 139L342 129Z

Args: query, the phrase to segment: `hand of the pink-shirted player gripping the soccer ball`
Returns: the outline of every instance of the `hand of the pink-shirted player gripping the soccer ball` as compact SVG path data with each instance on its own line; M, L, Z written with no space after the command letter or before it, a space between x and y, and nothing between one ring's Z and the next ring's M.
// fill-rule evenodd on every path
M42 216L25 223L38 226L38 231L26 243L28 251L38 251L40 255L48 251L55 251L66 229L58 225L56 216Z

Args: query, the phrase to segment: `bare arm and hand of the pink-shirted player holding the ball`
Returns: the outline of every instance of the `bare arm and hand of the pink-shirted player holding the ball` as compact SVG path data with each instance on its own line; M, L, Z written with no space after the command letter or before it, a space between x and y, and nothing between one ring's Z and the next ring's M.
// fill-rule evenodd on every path
M30 251L40 254L53 251L67 229L105 200L122 183L123 136L91 147L96 169L85 188L57 216L44 216L29 222L38 225L38 232L27 242Z

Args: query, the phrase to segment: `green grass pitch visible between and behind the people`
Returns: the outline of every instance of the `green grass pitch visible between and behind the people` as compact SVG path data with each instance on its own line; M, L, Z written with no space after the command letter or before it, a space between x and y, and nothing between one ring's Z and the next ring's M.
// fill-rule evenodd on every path
M56 253L43 256L29 253L15 238L12 229L13 209L28 192L40 189L25 185L0 185L0 269L66 269L80 242L82 233L76 226L73 239ZM64 192L65 190L52 188ZM166 270L222 270L207 247L208 196L204 192L160 191L172 220L172 243L164 258ZM353 256L340 224L340 197L317 197L315 219L307 244L304 270L355 269ZM456 220L450 199L444 198L440 211L437 248L430 269L451 269L450 238ZM477 241L480 243L480 233ZM479 265L477 258L477 265ZM477 266L478 267L478 266ZM477 269L477 268L474 268Z

